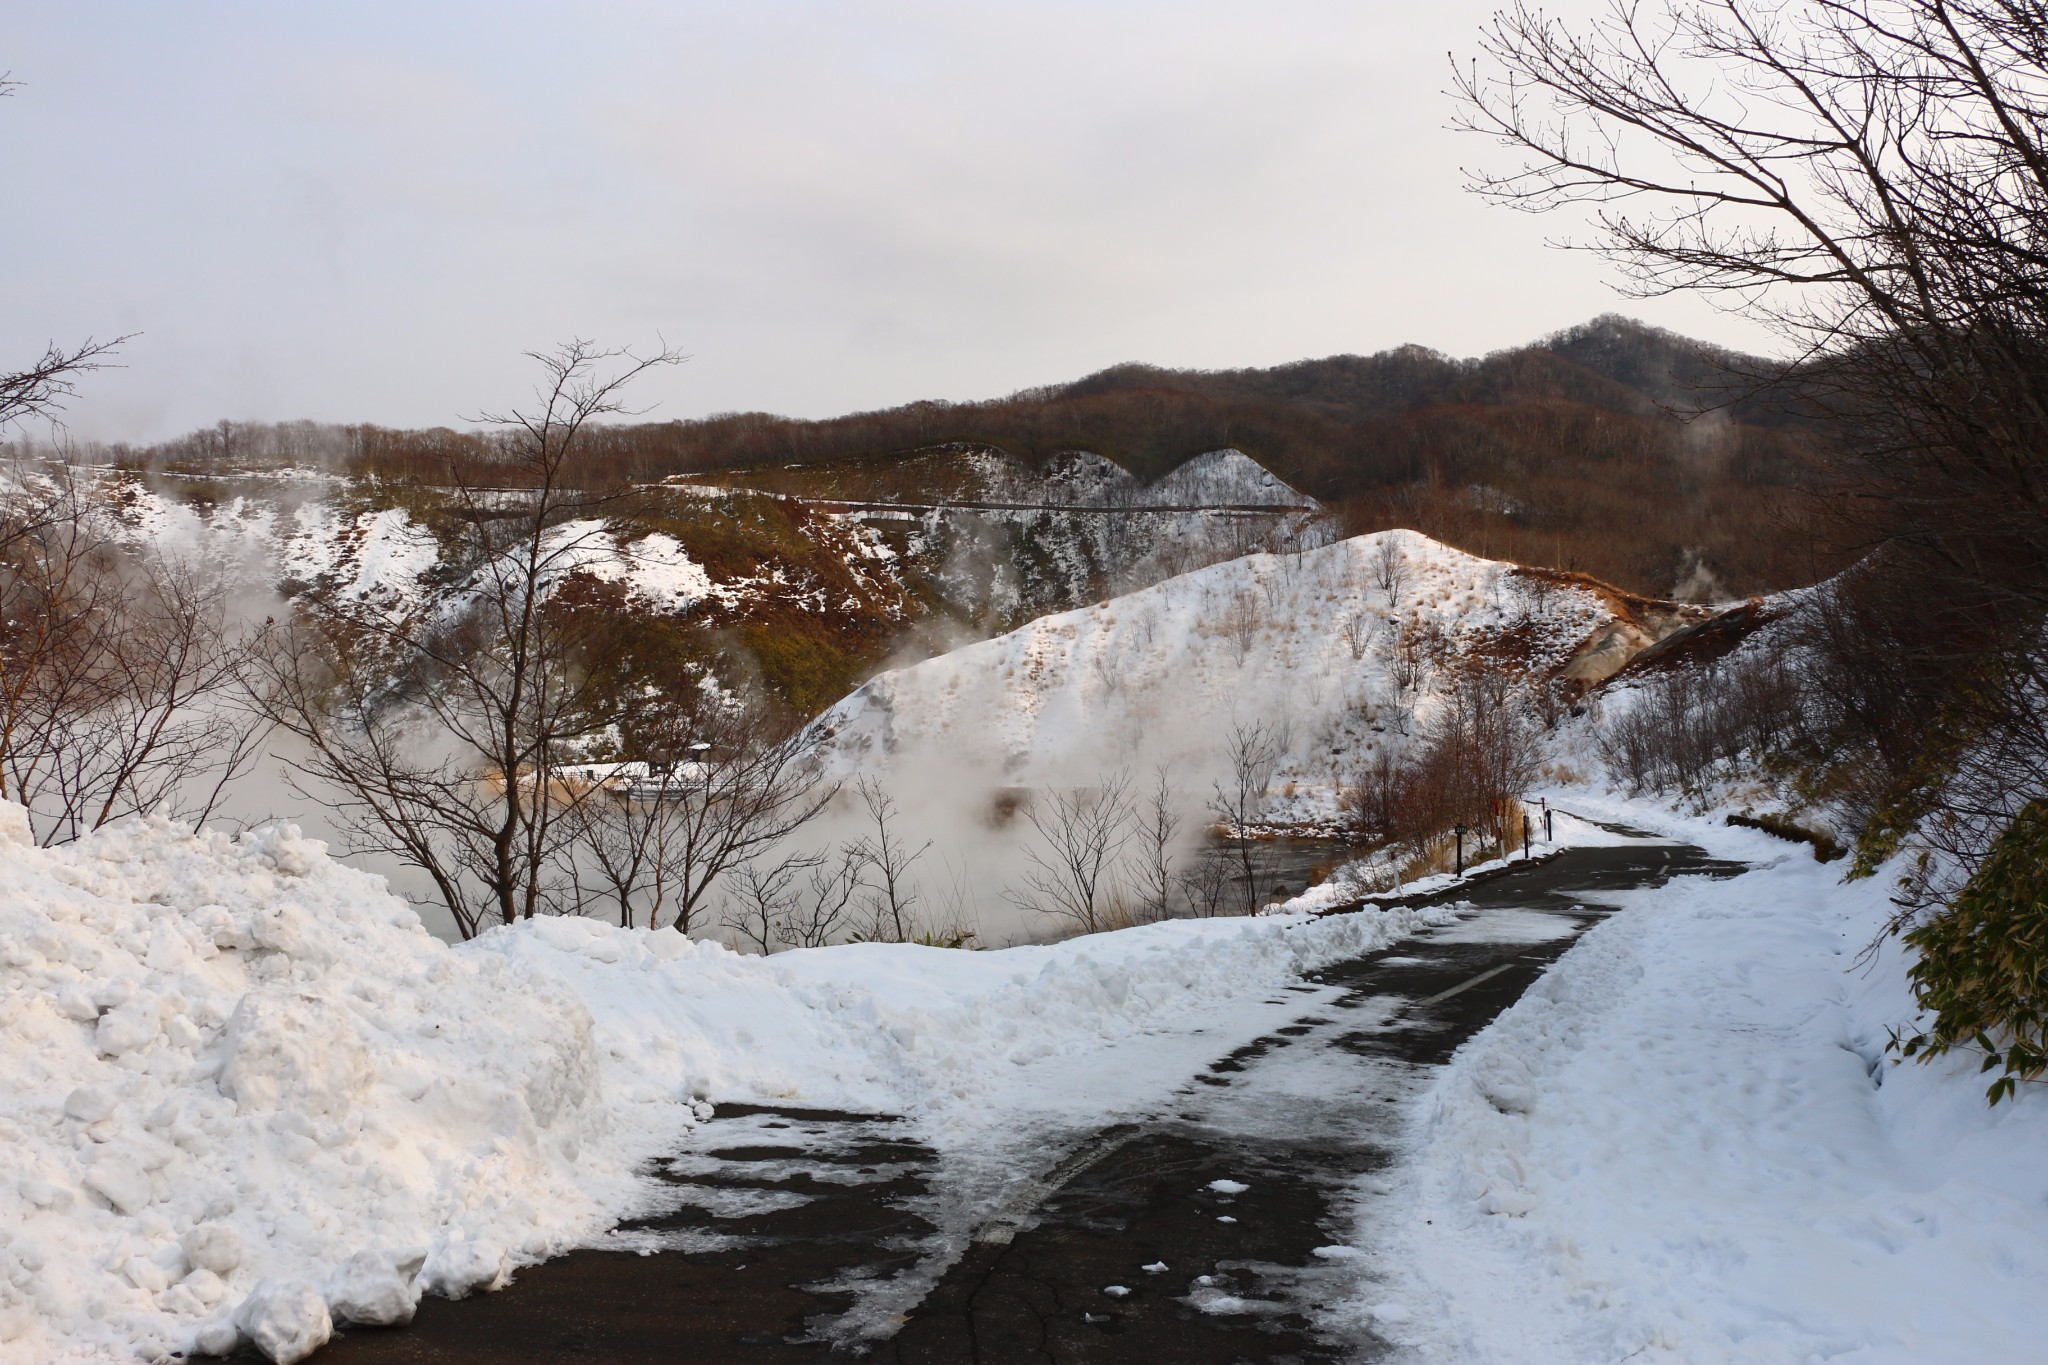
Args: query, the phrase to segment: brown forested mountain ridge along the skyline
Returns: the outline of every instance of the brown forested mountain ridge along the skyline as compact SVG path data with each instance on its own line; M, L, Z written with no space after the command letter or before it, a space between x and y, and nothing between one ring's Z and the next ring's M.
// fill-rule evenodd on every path
M1575 569L1651 596L1729 598L1841 567L1794 524L1829 432L1763 387L1765 360L1599 317L1477 360L1403 346L1274 368L1120 364L975 403L831 420L719 413L592 428L592 483L688 477L795 497L971 499L975 460L1051 473L1092 452L1139 481L1237 448L1343 518L1479 555ZM481 434L219 424L137 471L324 465L377 483L489 479Z

